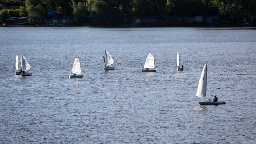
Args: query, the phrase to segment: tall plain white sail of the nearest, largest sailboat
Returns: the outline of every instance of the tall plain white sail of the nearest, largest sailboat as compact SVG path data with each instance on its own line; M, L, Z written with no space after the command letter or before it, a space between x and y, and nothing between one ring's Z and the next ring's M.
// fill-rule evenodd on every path
M206 97L206 81L207 81L207 62L204 64L204 68L199 80L199 84L197 87L196 96L198 97Z

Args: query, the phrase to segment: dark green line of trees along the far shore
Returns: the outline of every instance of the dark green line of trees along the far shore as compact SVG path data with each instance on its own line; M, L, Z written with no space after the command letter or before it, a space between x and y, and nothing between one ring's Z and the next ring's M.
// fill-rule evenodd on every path
M124 17L154 16L159 20L180 16L220 16L230 18L256 16L256 0L0 0L0 21L7 17L42 20L48 11L56 16L74 16L84 23L85 16L99 24L121 23Z

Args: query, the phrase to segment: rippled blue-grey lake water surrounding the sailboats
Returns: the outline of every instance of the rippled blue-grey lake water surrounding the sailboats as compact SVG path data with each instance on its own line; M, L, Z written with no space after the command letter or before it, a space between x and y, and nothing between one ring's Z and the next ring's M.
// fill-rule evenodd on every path
M0 49L1 144L256 142L256 28L0 27ZM156 73L141 72L149 52ZM198 103L206 62L207 99L225 105Z

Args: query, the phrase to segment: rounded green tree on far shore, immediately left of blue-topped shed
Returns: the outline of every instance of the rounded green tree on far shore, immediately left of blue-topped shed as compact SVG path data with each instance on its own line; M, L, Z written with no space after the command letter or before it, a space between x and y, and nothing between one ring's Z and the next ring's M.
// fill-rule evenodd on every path
M40 21L44 18L44 9L41 5L37 5L36 7L31 5L27 8L27 12L31 23L34 21Z

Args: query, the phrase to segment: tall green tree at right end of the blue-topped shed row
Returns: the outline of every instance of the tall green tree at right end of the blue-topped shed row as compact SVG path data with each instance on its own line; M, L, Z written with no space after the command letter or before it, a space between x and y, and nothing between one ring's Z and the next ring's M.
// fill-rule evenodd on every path
M77 23L84 23L85 22L85 16L87 14L86 11L86 5L82 2L78 2L78 4L76 4L76 2L74 2L74 0L72 0L72 7L73 7L73 14L75 16L75 21Z

